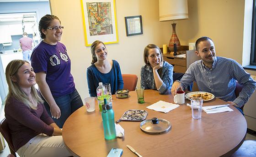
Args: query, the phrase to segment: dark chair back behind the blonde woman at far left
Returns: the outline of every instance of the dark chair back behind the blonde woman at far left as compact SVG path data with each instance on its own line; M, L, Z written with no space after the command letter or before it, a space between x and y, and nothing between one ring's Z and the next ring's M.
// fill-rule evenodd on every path
M8 123L6 118L4 118L1 122L0 122L0 132L2 133L3 137L5 138L6 142L8 143L9 149L11 154L16 157L16 153L15 153L15 149L13 147L12 141L11 141L11 133L10 133L10 129L8 127Z

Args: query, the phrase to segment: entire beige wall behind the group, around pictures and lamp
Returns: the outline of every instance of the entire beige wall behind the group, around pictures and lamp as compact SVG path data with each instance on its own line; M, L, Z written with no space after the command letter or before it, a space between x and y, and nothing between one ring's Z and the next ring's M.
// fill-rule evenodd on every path
M65 26L61 42L67 46L76 87L84 98L88 96L86 68L90 66L91 52L90 47L85 47L80 0L50 2L52 14ZM179 20L176 25L181 45L209 36L215 42L218 56L241 64L244 3L245 0L188 0L189 19ZM144 47L149 43L161 46L169 42L171 22L158 21L158 7L158 0L116 0L119 43L107 45L107 49L108 58L119 62L122 73L140 76ZM143 35L127 37L124 17L133 15L142 15Z

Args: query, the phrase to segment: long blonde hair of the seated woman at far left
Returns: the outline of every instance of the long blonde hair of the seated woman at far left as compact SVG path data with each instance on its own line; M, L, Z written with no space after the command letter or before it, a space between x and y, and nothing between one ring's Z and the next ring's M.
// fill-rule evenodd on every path
M18 85L18 82L14 82L11 80L12 76L15 76L19 80L17 72L20 69L20 67L25 63L29 63L29 62L23 61L23 60L13 60L6 67L5 78L8 84L9 91L5 99L5 105L7 105L6 102L8 101L8 99L10 99L10 97L13 96L16 100L21 101L23 104L25 104L29 108L36 110L37 106L34 106L32 102L29 101L27 95L24 93L24 91L21 90L21 87ZM38 95L35 86L31 87L31 95L35 101L39 103L43 103L43 100Z

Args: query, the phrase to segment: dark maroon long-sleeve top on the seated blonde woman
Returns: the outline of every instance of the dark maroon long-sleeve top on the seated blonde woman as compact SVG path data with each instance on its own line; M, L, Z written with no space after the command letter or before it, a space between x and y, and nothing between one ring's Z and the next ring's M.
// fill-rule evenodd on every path
M16 151L40 133L48 136L53 134L53 127L49 126L53 123L53 119L48 115L43 104L37 103L37 109L33 110L11 97L6 100L5 117Z

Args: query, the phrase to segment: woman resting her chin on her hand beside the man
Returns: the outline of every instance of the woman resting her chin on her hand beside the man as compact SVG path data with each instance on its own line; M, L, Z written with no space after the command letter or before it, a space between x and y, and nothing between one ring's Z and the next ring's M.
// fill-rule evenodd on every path
M141 68L140 86L145 89L158 90L160 94L170 91L173 82L173 66L163 61L161 50L155 44L149 44L144 49L145 66Z

